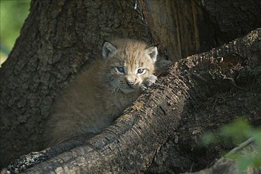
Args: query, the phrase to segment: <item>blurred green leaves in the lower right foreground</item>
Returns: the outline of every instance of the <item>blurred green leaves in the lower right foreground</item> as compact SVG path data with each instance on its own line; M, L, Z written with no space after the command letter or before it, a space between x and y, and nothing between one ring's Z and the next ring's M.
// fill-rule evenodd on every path
M237 146L248 138L252 138L258 146L258 152L255 155L242 155L236 152L225 155L225 158L238 161L239 171L245 171L249 166L261 167L261 127L253 128L248 122L238 119L221 127L217 133L206 132L202 137L202 143L207 146L211 143L230 140L234 146Z

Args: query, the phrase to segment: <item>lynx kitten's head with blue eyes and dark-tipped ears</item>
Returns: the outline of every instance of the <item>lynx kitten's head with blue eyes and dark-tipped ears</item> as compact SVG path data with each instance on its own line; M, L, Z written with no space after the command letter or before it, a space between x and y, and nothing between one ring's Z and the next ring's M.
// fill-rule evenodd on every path
M104 80L112 92L131 93L150 79L154 73L157 47L148 47L144 42L118 39L105 42L102 56L105 59Z

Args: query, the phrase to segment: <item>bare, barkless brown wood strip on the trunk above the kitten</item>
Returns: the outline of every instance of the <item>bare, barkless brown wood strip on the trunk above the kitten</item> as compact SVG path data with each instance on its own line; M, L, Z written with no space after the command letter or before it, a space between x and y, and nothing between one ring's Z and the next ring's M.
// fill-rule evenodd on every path
M176 61L200 52L198 6L194 1L142 0L140 3L141 13L150 26L153 39L161 43L159 48L166 59Z

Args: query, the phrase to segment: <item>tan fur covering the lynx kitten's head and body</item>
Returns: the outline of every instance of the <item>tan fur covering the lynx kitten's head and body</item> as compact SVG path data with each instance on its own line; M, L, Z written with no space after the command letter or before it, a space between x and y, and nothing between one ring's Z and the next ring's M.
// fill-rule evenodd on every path
M153 47L130 39L106 44L105 51L112 51L108 55L102 53L105 58L79 75L57 101L47 124L48 145L83 133L100 132L139 96L145 82L155 82L155 60L150 56ZM125 73L117 73L115 67L123 67ZM138 68L146 69L146 73L138 74ZM126 84L128 81L134 82L133 88Z

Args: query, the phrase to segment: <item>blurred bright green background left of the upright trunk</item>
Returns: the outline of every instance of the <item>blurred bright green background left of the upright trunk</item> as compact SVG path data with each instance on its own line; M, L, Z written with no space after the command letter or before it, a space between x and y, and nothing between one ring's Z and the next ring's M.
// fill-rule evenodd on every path
M12 50L24 20L29 14L31 0L0 0L0 65Z

